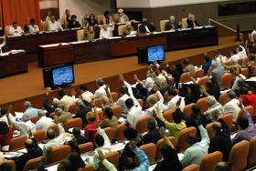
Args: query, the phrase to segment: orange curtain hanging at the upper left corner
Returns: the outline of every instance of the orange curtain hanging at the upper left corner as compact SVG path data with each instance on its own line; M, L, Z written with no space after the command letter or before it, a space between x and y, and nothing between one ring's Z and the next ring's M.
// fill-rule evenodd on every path
M1 0L2 18L4 25L17 22L22 28L27 24L27 18L35 18L37 25L40 22L39 0Z

